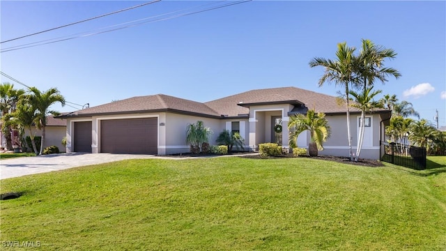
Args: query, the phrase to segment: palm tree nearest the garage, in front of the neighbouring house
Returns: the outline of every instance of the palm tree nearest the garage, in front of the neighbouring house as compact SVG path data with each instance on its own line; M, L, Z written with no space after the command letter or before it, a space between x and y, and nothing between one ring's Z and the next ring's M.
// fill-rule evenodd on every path
M49 110L51 105L56 102L60 102L62 106L65 105L65 98L61 95L58 89L51 88L45 92L40 91L36 87L29 88L29 103L36 108L36 123L37 128L42 130L42 142L40 144L40 153L43 153L45 146L45 126L47 126L47 115L53 114L54 116L59 115L59 112L54 110Z

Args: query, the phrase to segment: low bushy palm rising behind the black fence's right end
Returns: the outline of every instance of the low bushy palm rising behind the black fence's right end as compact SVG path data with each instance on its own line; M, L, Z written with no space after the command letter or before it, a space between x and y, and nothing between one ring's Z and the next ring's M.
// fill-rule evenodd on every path
M430 153L431 142L433 142L437 131L433 124L426 121L426 119L415 121L410 125L409 131L409 140L415 146L426 148L426 151Z

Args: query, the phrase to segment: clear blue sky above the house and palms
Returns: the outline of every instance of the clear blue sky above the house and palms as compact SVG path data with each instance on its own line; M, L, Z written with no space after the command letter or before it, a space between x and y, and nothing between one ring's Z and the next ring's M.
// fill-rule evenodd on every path
M0 40L141 3L146 1L1 1ZM157 93L206 102L280 86L337 96L337 86L318 87L323 68L309 68L309 61L316 56L333 59L337 43L360 47L361 39L367 38L398 53L385 66L402 74L377 83L376 89L412 102L430 121L438 109L440 126L446 126L445 1L249 1L84 36L86 31L222 3L160 1L1 43L1 71L41 90L56 87L69 102L91 107ZM77 33L84 37L6 51ZM14 83L3 76L1 82Z

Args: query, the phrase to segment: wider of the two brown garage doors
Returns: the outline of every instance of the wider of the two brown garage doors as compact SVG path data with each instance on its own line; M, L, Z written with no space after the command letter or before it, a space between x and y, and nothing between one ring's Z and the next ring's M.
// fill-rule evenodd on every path
M157 153L157 118L100 122L102 153Z

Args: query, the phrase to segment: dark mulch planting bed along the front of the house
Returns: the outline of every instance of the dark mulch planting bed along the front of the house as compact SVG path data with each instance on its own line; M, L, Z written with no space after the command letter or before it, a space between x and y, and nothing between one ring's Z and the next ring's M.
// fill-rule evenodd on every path
M259 154L254 155L246 155L247 152L231 152L228 153L228 155L234 155L238 156L240 158L254 158L254 159L265 159L265 157L261 157ZM199 153L199 154L192 154L192 153L177 153L177 154L171 154L171 155L164 155L164 157L174 157L174 158L185 158L185 157L211 157L211 156L218 156L214 153ZM293 157L293 154L283 155L283 156L271 156L267 158L295 158ZM344 164L349 165L358 165L363 167L383 167L383 163L378 160L368 160L368 159L360 159L357 162L350 161L350 158L347 157L337 157L337 156L328 156L328 155L319 155L317 157L298 157L298 158L314 158L317 160L328 160L328 161L334 161L334 162L340 162Z

